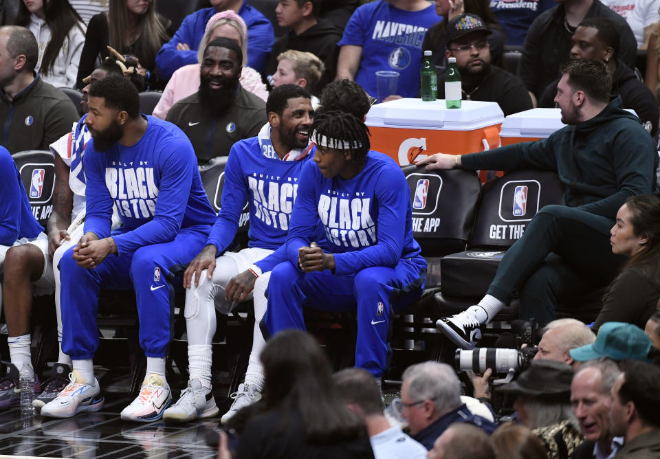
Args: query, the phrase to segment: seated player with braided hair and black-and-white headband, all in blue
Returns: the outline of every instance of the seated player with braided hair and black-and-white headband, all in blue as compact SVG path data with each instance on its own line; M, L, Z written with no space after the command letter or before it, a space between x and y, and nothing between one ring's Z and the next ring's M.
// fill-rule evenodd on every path
M289 260L272 271L262 331L305 328L305 306L357 311L355 366L380 381L391 315L419 298L426 280L410 190L390 157L369 150L369 129L357 117L327 111L309 132L316 164L300 174ZM318 227L325 240L316 239Z

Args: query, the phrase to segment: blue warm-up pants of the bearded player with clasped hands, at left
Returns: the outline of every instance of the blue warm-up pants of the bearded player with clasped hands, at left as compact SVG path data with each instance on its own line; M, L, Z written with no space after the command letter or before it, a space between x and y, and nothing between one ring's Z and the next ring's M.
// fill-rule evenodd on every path
M168 243L146 245L131 254L107 256L95 269L79 267L73 248L60 260L62 348L74 360L91 359L98 348L101 289L135 290L140 346L147 357L165 357L170 343L170 289L173 265L190 262L206 244L208 225L179 230Z

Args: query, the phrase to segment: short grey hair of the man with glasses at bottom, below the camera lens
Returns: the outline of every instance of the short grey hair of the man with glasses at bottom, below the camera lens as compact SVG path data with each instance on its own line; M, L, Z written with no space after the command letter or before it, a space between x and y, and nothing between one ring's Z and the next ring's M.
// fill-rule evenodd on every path
M461 383L454 369L446 363L426 361L406 368L404 382L412 401L433 400L440 414L461 405Z

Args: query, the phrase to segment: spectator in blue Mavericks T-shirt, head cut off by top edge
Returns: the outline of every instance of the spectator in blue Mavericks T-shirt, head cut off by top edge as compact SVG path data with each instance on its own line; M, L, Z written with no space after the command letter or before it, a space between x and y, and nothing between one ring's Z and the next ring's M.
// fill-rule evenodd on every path
M399 72L397 94L417 97L421 43L437 14L426 0L377 0L360 6L344 30L337 79L355 80L377 95L376 72Z

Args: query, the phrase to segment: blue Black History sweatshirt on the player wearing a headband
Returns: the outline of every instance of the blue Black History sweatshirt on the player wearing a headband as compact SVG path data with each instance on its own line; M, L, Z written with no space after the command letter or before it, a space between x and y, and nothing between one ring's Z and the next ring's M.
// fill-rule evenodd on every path
M326 179L309 161L300 175L298 199L287 236L289 260L298 266L298 249L314 240L316 225L325 229L323 248L335 258L335 273L395 267L401 258L420 255L412 238L410 188L401 168L382 153L370 151L352 179Z

